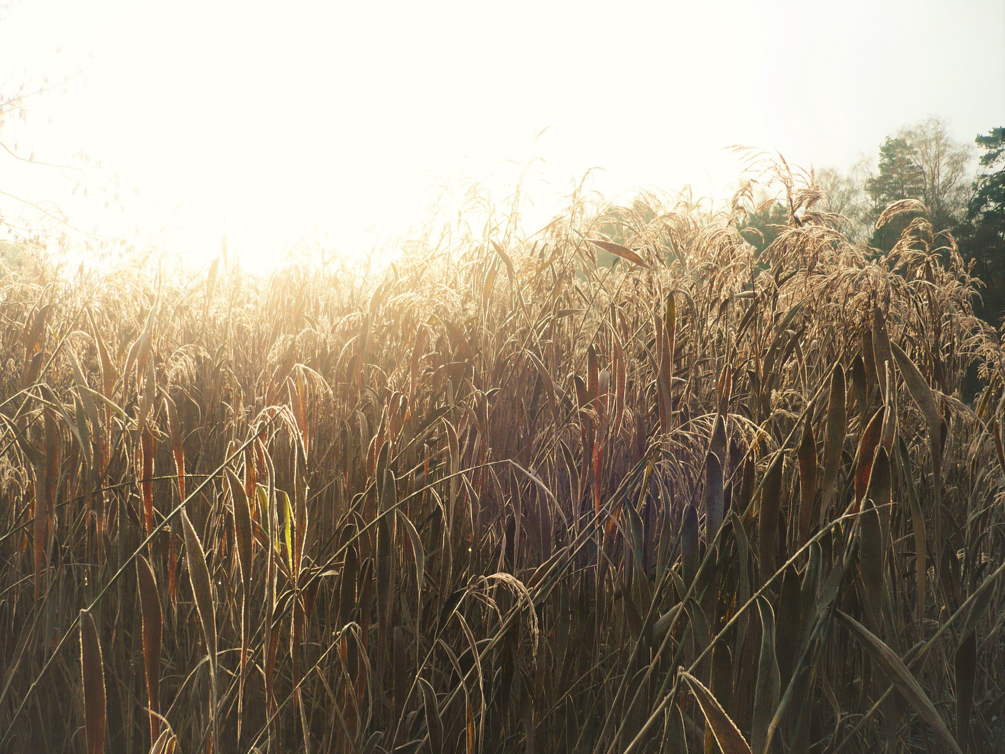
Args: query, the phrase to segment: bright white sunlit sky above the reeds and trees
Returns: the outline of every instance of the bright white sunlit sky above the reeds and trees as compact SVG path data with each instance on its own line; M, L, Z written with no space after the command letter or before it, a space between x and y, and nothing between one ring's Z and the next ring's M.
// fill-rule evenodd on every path
M125 214L3 156L0 189L198 264L226 232L261 268L303 236L366 252L436 183L502 198L535 157L545 216L593 167L607 197L721 199L732 144L845 169L930 114L972 142L1005 125L1005 2L18 0L0 17L7 88L76 70L3 136L100 159Z

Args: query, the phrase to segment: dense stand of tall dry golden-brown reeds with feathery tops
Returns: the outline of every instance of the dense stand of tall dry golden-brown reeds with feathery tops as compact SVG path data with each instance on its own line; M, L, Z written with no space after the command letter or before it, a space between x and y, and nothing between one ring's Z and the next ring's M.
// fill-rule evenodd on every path
M758 256L741 192L6 278L0 750L1002 750L977 281L773 169Z

